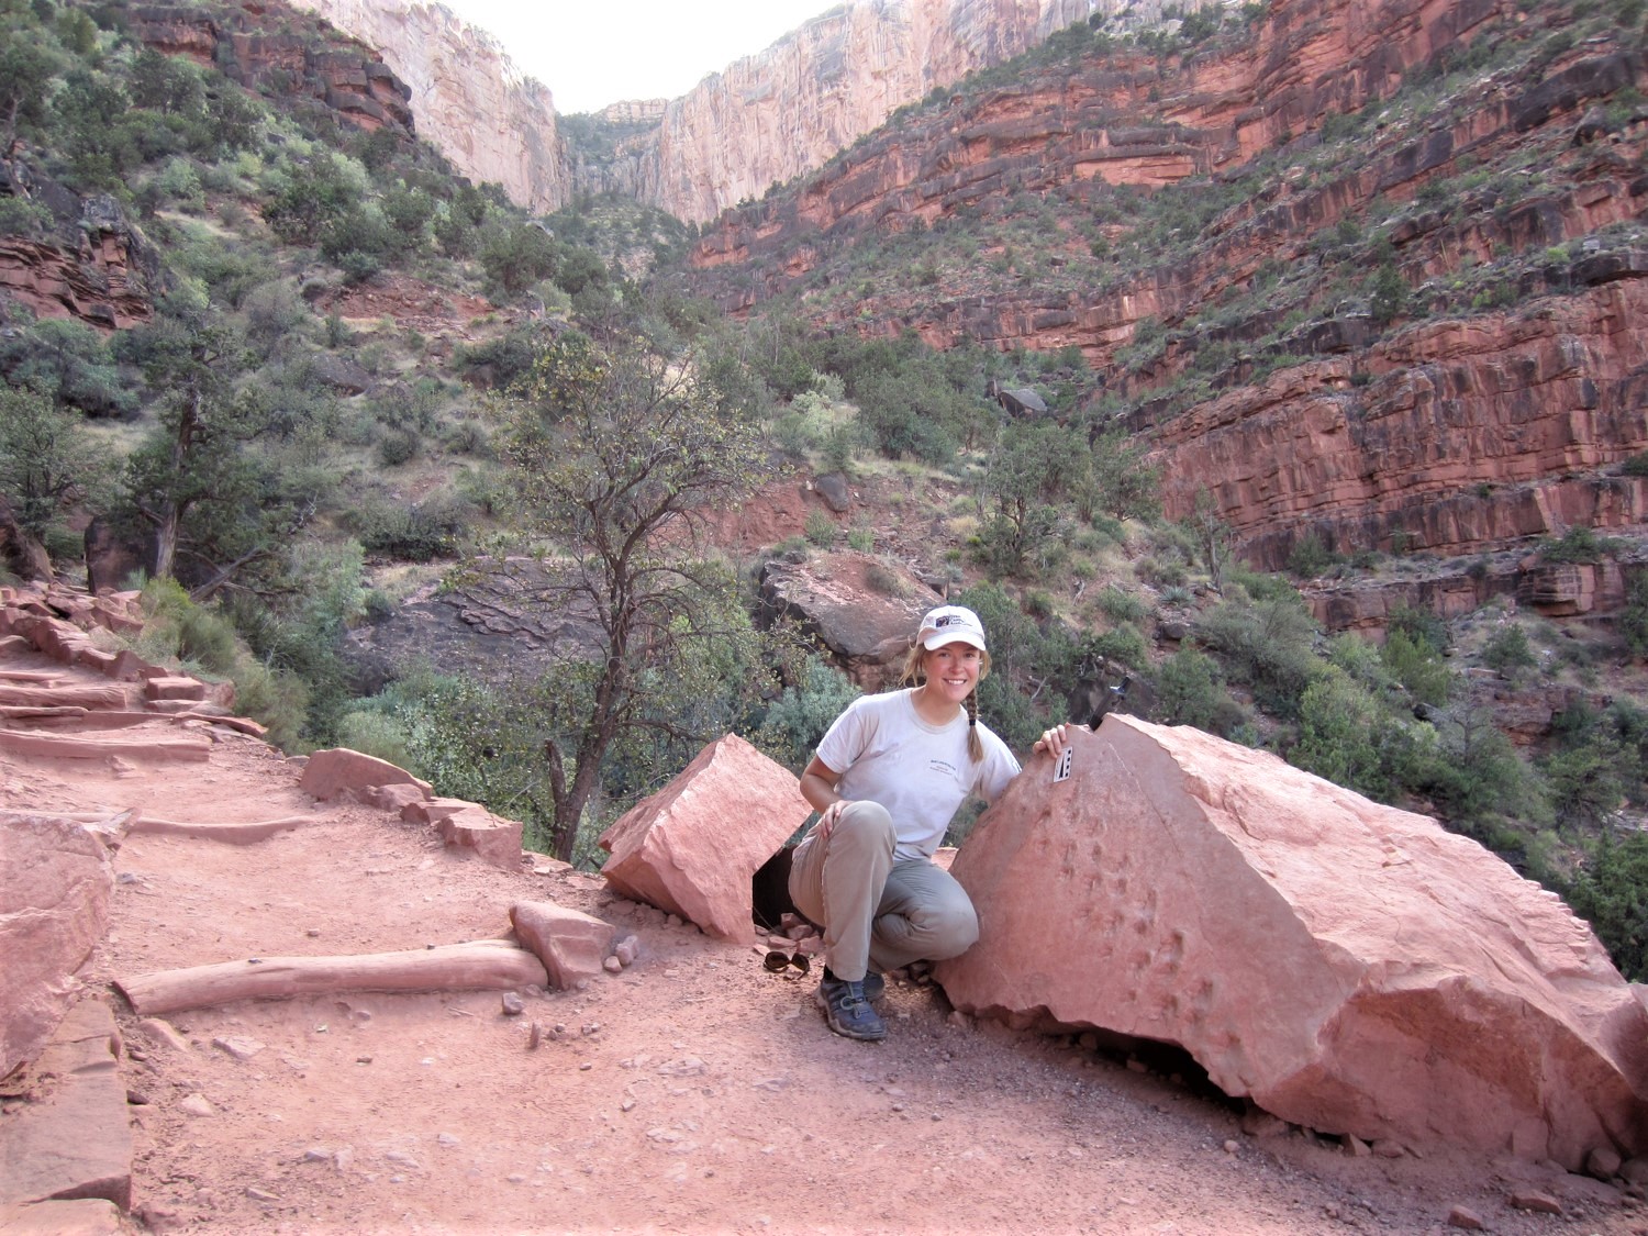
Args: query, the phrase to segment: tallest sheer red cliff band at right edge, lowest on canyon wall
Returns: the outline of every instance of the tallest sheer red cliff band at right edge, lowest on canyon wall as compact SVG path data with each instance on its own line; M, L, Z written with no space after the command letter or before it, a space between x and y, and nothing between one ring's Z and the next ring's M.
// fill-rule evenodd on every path
M1585 293L1422 323L1140 424L1163 504L1187 514L1206 486L1267 569L1307 532L1345 552L1465 554L1645 524L1648 481L1617 466L1648 450L1645 315L1648 254Z

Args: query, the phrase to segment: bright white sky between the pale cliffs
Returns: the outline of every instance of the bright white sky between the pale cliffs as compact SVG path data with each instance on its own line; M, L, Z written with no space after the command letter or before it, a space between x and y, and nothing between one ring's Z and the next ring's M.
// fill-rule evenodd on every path
M676 99L704 77L776 43L836 0L442 0L489 31L555 110L620 99Z

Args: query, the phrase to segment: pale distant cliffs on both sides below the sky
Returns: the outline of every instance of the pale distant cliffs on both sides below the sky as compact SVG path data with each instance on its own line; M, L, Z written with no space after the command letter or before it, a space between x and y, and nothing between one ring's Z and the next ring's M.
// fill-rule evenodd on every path
M1162 12L1159 0L857 0L681 99L615 104L574 129L496 40L438 3L298 3L382 53L412 87L419 133L465 175L534 209L615 191L692 222L822 165L895 109L1055 30L1093 13L1154 21Z

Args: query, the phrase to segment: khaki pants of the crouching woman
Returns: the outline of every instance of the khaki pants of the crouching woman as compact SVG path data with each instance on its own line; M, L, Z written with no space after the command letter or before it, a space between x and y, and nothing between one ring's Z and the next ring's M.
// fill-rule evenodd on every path
M966 953L979 938L967 890L929 859L893 862L897 834L880 803L849 803L827 839L814 829L796 845L789 897L824 925L824 957L837 979L872 967Z

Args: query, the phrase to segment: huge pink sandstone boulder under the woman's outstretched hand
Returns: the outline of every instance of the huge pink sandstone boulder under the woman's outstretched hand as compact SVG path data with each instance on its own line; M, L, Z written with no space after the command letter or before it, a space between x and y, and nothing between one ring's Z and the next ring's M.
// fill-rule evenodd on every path
M1556 1159L1648 1149L1648 1012L1554 893L1434 821L1188 727L1035 758L953 873L956 1007L1178 1043L1325 1132Z

